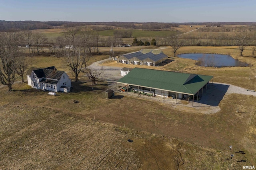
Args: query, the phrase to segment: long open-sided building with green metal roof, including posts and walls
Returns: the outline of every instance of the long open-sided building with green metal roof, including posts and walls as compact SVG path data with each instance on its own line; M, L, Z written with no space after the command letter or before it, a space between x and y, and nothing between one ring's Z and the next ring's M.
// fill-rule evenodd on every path
M117 83L132 86L134 91L149 93L163 98L188 98L197 97L199 91L209 87L213 76L153 70L146 68L134 68L126 76L120 78Z

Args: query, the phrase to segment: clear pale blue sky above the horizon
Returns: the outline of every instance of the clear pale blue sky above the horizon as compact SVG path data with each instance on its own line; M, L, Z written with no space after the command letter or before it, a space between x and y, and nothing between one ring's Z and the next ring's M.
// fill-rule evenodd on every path
M0 0L0 20L254 22L256 0Z

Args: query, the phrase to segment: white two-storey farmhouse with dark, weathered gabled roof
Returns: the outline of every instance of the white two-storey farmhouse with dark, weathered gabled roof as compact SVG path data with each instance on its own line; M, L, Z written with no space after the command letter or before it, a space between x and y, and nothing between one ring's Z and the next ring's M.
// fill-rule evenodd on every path
M32 88L53 92L70 92L71 80L64 71L55 66L47 68L31 68L27 72L28 85Z

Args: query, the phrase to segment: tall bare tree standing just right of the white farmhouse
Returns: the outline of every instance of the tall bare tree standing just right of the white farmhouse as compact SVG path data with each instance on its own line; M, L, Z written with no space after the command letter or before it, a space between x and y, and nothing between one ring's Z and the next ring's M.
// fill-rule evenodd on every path
M81 72L84 64L84 56L81 56L80 49L65 49L63 57L67 66L74 72L75 81L78 82L78 74Z

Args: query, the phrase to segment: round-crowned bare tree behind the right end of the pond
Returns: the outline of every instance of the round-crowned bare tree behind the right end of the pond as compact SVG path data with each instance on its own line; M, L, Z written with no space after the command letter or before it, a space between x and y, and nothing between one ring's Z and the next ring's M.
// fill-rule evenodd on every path
M234 44L238 46L240 50L240 56L243 56L243 51L250 42L250 36L247 33L240 33L234 36Z

